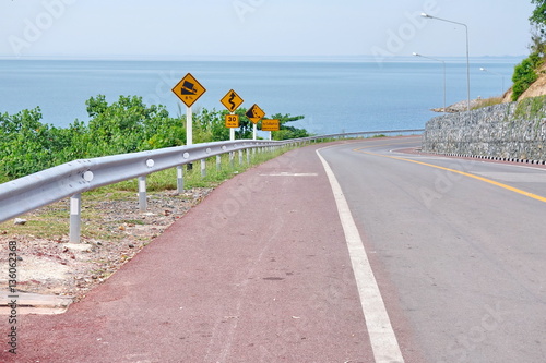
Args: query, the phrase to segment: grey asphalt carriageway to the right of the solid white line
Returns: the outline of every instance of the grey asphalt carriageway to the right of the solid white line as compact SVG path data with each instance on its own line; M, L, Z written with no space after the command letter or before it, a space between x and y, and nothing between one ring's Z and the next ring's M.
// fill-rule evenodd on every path
M399 339L426 362L546 362L546 170L396 153L415 145L320 152Z

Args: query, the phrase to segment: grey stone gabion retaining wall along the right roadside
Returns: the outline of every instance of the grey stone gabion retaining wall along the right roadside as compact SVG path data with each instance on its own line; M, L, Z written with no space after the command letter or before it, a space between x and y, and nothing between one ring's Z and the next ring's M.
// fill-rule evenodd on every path
M436 117L423 150L545 164L546 96Z

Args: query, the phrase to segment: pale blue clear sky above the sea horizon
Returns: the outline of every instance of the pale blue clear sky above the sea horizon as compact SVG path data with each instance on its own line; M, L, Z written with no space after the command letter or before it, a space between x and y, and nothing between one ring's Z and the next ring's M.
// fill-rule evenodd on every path
M0 58L529 55L531 0L0 0ZM425 19L426 12L437 19Z

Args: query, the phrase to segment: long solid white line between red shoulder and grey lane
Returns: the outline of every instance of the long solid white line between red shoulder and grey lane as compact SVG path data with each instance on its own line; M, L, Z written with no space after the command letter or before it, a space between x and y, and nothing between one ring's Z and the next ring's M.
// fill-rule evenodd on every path
M334 172L319 152L320 149L317 150L317 155L322 161L324 171L330 180L335 204L337 205L337 213L340 214L343 231L345 233L353 271L360 295L360 304L366 318L366 327L368 328L371 348L373 350L373 358L376 363L403 363L404 358L402 356L396 336L394 335L389 314L384 306L383 298L381 297L376 277L373 276L368 256L366 255L360 233L356 228L347 201L343 195L343 191Z

